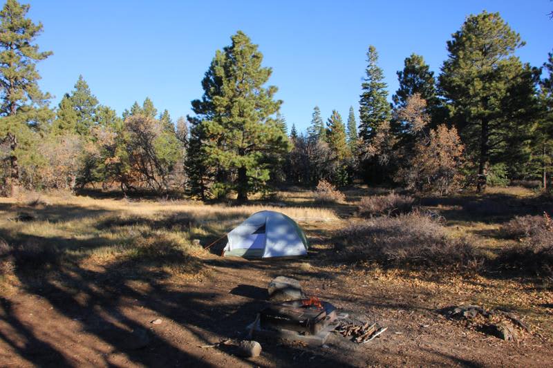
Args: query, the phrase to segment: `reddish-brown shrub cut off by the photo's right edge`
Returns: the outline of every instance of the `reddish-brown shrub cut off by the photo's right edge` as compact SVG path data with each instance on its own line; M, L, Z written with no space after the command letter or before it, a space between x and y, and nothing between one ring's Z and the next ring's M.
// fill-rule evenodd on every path
M500 264L525 272L553 275L553 220L547 213L515 217L502 231L520 238L521 242L501 252Z

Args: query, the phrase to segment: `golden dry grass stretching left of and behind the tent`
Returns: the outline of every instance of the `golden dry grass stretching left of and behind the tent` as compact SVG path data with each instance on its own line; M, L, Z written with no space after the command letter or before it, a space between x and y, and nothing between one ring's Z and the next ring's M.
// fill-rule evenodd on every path
M64 264L157 269L196 274L205 246L252 213L280 211L298 222L336 219L333 211L261 204L129 202L73 195L26 193L0 198L0 271L3 276L63 269ZM28 213L32 220L17 220ZM120 266L115 266L116 264Z

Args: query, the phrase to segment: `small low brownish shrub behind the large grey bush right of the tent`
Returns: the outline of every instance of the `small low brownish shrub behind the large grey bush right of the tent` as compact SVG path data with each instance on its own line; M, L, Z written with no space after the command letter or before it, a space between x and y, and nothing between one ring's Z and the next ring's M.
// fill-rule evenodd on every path
M362 216L400 215L413 211L414 202L413 197L395 193L362 197L359 201L359 213Z

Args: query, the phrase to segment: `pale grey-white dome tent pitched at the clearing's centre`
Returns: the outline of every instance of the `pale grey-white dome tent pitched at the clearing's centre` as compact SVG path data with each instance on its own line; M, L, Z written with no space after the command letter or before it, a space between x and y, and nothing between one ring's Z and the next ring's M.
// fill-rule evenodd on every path
M306 235L290 217L274 211L254 213L227 234L223 255L270 258L306 255Z

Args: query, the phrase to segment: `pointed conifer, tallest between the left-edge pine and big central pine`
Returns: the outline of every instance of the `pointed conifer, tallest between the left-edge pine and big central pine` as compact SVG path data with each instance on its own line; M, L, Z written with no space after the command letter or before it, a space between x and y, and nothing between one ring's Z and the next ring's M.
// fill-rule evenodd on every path
M77 133L87 136L90 134L90 129L95 122L96 108L98 105L97 98L91 93L91 89L82 77L79 75L75 90L71 92L71 104L77 113Z

